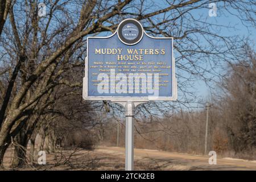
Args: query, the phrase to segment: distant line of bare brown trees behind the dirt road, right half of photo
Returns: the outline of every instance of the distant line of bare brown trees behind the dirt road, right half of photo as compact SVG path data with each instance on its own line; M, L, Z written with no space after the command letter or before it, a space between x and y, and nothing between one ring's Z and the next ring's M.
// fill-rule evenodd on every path
M229 63L209 98L207 154L256 159L256 53L245 46L242 59ZM223 70L223 71L224 71ZM176 109L158 119L139 118L135 147L204 154L207 105L201 109ZM104 144L125 146L122 119L105 122Z

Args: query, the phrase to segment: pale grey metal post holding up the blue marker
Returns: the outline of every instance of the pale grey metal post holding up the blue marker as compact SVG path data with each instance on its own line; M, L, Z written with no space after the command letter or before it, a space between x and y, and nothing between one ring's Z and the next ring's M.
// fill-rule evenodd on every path
M133 170L133 158L134 158L134 103L127 101L125 105L125 170Z

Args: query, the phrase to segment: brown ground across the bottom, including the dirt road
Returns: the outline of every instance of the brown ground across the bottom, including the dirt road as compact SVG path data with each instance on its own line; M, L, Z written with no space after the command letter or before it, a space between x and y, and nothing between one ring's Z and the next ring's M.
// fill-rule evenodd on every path
M12 150L5 155L5 168L11 169ZM220 158L208 163L210 156L135 149L135 170L256 170L256 161ZM125 148L97 147L93 151L65 150L47 154L46 165L27 166L23 170L124 170Z

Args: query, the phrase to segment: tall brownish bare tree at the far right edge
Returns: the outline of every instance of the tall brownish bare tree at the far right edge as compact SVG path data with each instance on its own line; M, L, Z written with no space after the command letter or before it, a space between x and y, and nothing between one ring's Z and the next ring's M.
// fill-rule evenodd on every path
M222 95L216 96L223 128L236 153L255 151L256 148L255 52L245 46L240 53L242 60L229 64L220 84Z

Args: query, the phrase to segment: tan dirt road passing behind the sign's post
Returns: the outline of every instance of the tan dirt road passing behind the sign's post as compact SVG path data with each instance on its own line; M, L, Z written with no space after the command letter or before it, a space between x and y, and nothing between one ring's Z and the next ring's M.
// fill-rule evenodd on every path
M98 147L97 153L125 158L125 149L121 147ZM256 161L242 159L218 158L217 164L210 165L210 156L180 154L156 150L135 149L135 167L139 163L148 163L147 169L160 170L256 170Z

